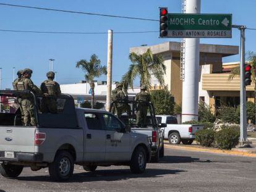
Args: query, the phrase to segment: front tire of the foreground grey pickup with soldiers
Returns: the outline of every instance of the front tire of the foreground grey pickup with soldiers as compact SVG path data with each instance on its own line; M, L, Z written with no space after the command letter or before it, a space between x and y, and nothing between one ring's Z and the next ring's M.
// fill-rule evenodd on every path
M147 156L145 149L138 147L132 154L130 161L130 170L132 173L144 173L147 165Z

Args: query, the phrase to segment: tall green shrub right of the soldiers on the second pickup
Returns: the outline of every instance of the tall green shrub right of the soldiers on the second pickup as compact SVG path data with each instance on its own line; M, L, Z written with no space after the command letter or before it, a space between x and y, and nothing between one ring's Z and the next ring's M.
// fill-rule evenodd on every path
M174 98L167 88L150 91L150 96L156 115L173 115Z

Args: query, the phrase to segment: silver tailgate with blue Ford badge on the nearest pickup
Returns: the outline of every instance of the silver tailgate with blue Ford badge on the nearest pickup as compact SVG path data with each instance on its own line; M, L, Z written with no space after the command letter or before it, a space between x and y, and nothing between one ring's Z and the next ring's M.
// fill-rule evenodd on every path
M36 127L0 127L0 151L34 152Z

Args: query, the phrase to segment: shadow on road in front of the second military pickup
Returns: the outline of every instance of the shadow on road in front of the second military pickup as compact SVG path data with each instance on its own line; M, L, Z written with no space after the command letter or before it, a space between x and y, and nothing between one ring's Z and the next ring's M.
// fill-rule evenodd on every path
M160 164L179 164L187 162L212 162L210 160L200 161L199 158L192 158L189 156L164 156L160 159Z

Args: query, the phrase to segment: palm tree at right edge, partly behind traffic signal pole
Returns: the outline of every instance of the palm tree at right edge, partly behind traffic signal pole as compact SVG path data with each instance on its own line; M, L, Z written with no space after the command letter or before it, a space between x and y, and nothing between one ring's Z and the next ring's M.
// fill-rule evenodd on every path
M253 51L249 51L247 54L248 54L248 61L252 66L251 73L252 73L252 81L254 82L254 102L256 107L256 54ZM237 75L240 75L240 66L237 66L231 70L231 73L229 75L229 80L232 80ZM255 114L255 117L256 117L256 114ZM255 118L255 124L256 124L256 118Z

